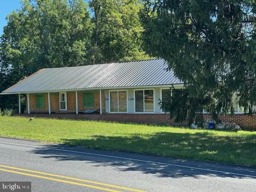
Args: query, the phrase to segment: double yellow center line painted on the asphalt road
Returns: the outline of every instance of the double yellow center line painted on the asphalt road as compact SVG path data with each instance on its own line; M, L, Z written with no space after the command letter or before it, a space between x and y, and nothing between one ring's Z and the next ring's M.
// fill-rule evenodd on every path
M12 166L6 166L6 165L0 165L0 167L5 168L5 169L0 168L0 171L4 171L4 172L21 174L21 175L26 175L26 176L29 176L29 177L47 179L47 180L52 180L52 181L58 181L58 182L72 184L72 185L89 187L89 188L100 189L100 190L105 190L105 191L117 192L117 191L120 191L120 189L122 189L122 190L125 190L125 191L145 192L145 191L142 191L142 190L139 190L139 189L132 189L132 188L127 188L127 187L122 187L122 186L111 185L111 184L108 184L108 183L90 181L90 180L85 180L85 179L78 179L78 178L74 178L74 177L67 177L67 176L64 176L64 175L45 173L45 172L41 172L41 171L21 169L21 168L18 168L18 167L12 167ZM22 171L22 172L20 172L20 171ZM32 174L32 173L36 173L36 174ZM47 176L51 176L51 177L46 177L46 176L43 176L43 175L47 175ZM53 177L55 177L55 178L53 178ZM68 179L68 180L64 180L64 179ZM70 180L73 180L73 181L70 181ZM81 181L81 182L84 182L84 183L76 182L76 181ZM89 184L86 184L86 183L91 183L91 184L94 184L94 185L89 185ZM110 188L106 188L106 187L110 187Z

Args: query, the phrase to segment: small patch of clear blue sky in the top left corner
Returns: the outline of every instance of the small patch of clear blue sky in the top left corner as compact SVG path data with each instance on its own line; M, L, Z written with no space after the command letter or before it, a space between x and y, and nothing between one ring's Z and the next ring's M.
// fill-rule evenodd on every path
M20 0L0 0L0 35L3 34L3 27L7 23L5 19L7 14L20 7Z

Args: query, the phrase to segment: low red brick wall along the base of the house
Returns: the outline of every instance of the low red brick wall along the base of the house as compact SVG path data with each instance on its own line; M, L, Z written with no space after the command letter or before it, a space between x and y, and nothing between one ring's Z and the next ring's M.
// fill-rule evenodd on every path
M79 120L95 120L95 121L110 121L122 123L147 123L147 124L167 124L184 126L185 123L174 123L167 114L18 114L25 117L44 117L58 119L79 119ZM209 118L209 115L204 115ZM256 115L222 115L220 119L223 122L235 122L242 128L256 128Z

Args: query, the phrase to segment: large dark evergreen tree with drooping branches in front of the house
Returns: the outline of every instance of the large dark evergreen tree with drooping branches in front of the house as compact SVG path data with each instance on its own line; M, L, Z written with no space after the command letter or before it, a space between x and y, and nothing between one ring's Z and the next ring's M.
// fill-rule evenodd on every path
M255 2L144 3L141 19L145 51L165 59L169 70L173 69L185 85L183 104L172 106L172 117L191 124L197 112L206 109L217 118L218 114L234 111L234 94L251 114L256 103ZM183 116L178 118L181 107Z

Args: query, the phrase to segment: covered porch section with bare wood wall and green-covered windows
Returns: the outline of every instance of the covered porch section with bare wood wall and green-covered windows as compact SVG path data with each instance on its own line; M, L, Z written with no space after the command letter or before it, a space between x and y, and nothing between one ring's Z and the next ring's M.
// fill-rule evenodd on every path
M24 113L42 114L86 114L105 113L105 93L102 90L26 93ZM21 114L19 94L19 114Z

